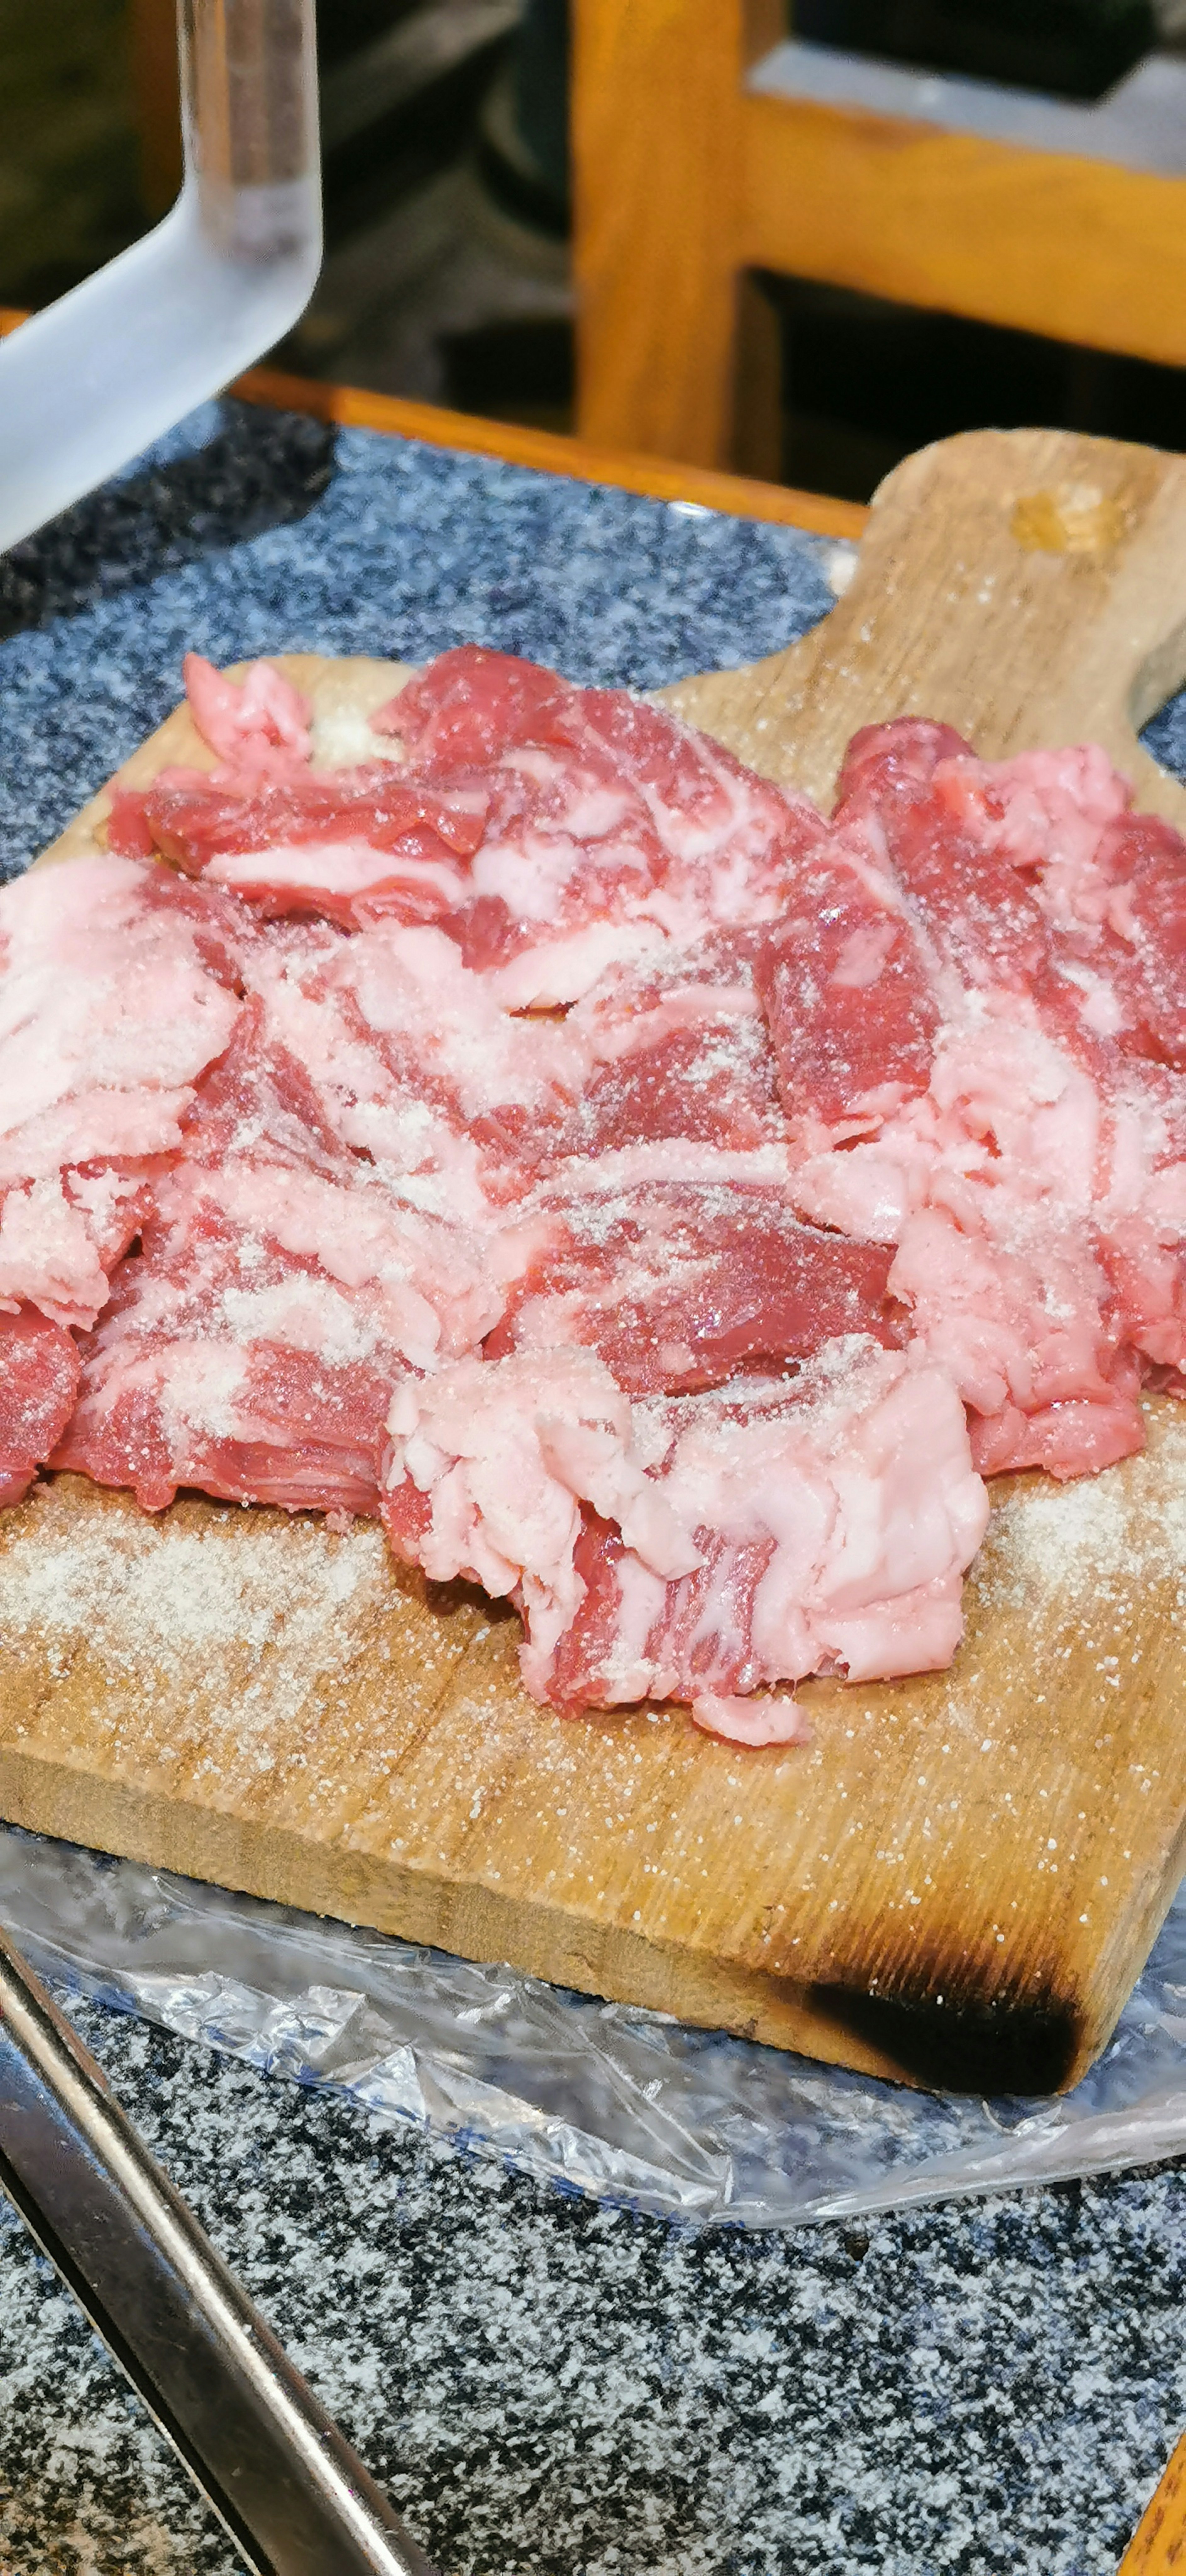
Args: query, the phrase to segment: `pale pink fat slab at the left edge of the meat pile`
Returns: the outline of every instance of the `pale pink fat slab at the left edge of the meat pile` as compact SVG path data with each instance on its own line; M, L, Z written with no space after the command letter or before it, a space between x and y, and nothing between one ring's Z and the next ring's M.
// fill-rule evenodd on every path
M82 858L0 894L0 1309L93 1324L239 997L224 899Z

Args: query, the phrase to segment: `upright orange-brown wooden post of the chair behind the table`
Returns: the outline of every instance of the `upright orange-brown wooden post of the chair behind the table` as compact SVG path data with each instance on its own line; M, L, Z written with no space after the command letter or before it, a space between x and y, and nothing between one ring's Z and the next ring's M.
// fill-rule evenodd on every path
M780 23L777 0L576 0L581 438L736 456L741 75ZM764 430L749 471L772 464L772 330L751 327L746 420Z

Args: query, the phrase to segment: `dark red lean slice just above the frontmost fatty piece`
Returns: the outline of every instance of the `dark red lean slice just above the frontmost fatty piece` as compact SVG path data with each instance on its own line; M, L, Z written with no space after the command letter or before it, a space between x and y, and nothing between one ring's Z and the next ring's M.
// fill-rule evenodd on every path
M900 1334L890 1249L800 1224L782 1190L558 1182L527 1213L538 1247L507 1285L489 1358L579 1345L628 1394L677 1394L772 1376L839 1334Z

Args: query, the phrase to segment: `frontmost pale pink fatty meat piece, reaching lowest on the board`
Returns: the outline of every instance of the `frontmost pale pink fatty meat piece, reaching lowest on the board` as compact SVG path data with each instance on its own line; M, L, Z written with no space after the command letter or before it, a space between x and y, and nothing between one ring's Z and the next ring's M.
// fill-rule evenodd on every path
M635 1406L592 1355L512 1355L391 1406L391 1546L509 1595L566 1713L692 1698L720 1726L780 1680L947 1664L985 1517L949 1378L862 1342Z

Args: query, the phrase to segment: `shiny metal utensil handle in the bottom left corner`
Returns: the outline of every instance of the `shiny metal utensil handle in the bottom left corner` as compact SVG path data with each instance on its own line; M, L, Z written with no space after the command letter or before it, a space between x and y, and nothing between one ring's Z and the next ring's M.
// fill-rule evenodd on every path
M0 2182L260 2576L432 2576L3 1932Z

